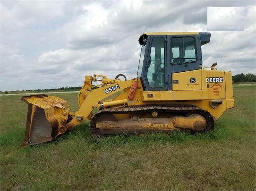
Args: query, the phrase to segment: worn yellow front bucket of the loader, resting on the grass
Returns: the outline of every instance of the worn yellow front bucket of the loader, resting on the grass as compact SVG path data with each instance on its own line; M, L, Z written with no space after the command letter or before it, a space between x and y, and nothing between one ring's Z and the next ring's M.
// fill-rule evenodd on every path
M67 122L71 119L67 101L44 94L23 96L22 100L28 104L28 114L20 147L54 140L67 131Z

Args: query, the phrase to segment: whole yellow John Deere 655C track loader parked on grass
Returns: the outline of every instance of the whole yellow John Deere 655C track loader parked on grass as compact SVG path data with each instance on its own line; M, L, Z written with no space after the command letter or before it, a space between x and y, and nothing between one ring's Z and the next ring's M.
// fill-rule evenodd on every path
M208 32L143 33L137 77L85 76L76 112L56 96L23 96L28 114L21 146L54 140L85 119L90 120L94 138L213 130L218 118L234 107L234 96L230 71L217 70L216 63L203 68L201 47L210 36ZM101 84L92 85L96 81Z

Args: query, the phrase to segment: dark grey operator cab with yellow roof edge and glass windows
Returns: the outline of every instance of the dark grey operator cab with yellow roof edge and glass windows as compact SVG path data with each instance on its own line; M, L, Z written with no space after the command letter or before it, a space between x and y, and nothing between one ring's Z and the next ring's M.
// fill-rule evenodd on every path
M143 33L137 77L145 91L172 90L172 74L202 68L201 45L211 33Z

